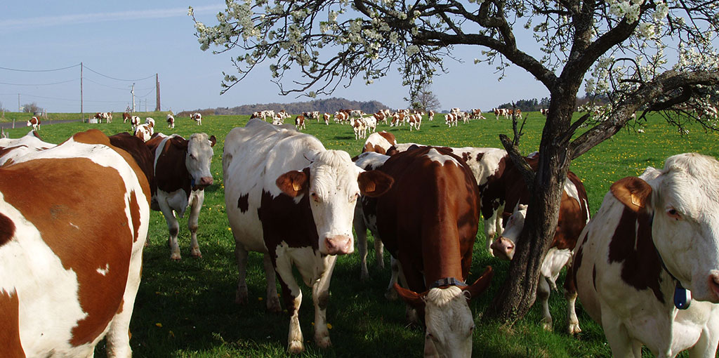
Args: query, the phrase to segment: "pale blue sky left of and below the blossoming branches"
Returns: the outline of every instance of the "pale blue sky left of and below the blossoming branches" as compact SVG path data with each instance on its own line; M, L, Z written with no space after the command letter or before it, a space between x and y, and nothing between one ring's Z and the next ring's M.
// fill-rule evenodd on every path
M213 55L199 49L188 6L199 21L212 25L224 1L6 1L0 5L0 103L17 111L19 94L21 105L35 102L50 112L79 112L81 62L85 112L124 111L133 82L136 108L154 109L155 73L162 110L306 100L278 95L266 66L220 95L222 71L234 72L229 61L233 52ZM488 111L518 99L549 96L541 83L516 67L498 81L493 66L473 63L480 50L459 47L454 55L464 63L446 60L449 73L431 86L442 109ZM68 66L75 67L36 72ZM361 78L349 88L340 86L332 96L405 108L408 91L401 82L392 70L370 86Z

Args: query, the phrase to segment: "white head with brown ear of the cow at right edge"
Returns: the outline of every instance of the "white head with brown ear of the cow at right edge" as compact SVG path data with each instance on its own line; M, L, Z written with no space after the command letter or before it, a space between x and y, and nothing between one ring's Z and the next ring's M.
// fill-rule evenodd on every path
M719 162L674 155L664 170L618 180L611 192L626 208L651 215L656 250L692 297L719 303Z

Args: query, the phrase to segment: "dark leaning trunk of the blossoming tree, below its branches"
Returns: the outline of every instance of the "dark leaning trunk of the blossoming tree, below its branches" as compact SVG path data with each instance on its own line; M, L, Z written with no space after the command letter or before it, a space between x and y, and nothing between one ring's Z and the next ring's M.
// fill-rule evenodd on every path
M571 124L575 98L552 98L539 145L539 166L527 216L509 275L484 318L514 323L529 311L536 299L540 268L557 230L559 204L571 155L565 131ZM511 208L507 208L511 210Z

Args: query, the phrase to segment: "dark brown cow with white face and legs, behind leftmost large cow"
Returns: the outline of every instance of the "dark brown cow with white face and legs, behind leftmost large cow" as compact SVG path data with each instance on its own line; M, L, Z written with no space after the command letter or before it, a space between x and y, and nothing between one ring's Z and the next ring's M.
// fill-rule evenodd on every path
M216 143L215 136L195 133L189 139L179 134L165 136L156 134L147 141L147 147L154 154L155 182L157 193L152 197L152 210L162 211L170 233L170 260L181 260L178 233L180 218L190 206L188 229L190 230L190 256L202 257L197 242L198 218L205 200L205 188L212 185L210 164Z

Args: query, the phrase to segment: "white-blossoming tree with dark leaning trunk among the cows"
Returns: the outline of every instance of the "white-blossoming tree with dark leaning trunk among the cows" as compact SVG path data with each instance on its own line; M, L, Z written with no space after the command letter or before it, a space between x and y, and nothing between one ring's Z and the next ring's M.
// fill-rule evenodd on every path
M477 45L502 73L516 65L550 93L536 173L508 137L534 195L507 279L485 317L514 321L531 307L539 268L557 225L569 163L625 127L636 111L662 111L673 123L700 121L719 84L716 1L707 0L226 0L217 23L195 19L202 50L235 51L232 88L270 63L280 93L314 97L356 78L372 83L398 65L410 96L431 83L454 45ZM520 48L533 36L536 48ZM539 55L536 55L539 53ZM290 71L290 72L288 72ZM297 71L291 88L285 74ZM284 80L284 81L283 81ZM610 105L572 120L577 93L605 94ZM715 112L714 112L715 113ZM677 114L681 116L677 116ZM641 120L640 114L638 119ZM575 135L577 134L577 135ZM517 137L515 135L515 137ZM572 139L574 138L574 139ZM528 239L533 238L533 239Z

